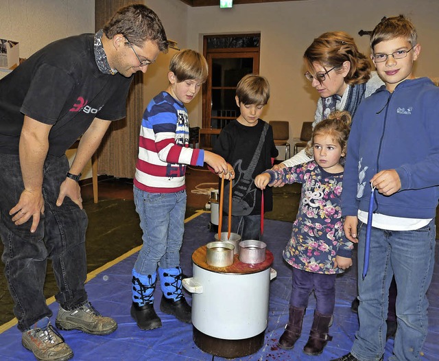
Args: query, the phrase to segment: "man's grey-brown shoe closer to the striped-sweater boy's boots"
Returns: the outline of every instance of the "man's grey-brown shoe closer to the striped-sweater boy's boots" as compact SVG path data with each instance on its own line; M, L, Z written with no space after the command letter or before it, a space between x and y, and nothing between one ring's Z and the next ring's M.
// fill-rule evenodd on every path
M93 335L108 335L117 329L116 321L110 317L101 316L90 302L69 311L60 306L55 325L66 331L79 329Z

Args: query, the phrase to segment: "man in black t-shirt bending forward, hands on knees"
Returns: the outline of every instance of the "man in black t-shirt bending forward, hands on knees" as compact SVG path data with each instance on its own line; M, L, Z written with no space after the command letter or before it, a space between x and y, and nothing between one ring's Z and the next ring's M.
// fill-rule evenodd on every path
M73 351L50 325L43 294L51 258L60 303L56 326L106 335L117 323L88 301L85 231L78 180L111 121L126 116L137 71L167 38L145 5L121 8L96 34L51 43L0 80L0 237L23 345L38 360ZM81 137L69 167L65 151Z

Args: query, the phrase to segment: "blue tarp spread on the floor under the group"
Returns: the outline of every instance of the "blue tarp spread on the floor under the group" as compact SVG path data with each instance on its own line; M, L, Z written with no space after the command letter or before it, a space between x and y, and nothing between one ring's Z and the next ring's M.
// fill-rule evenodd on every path
M213 241L213 233L207 229L209 213L202 213L186 224L185 240L182 246L181 263L183 272L192 275L191 255L198 247ZM351 312L351 301L356 295L356 262L342 277L337 278L337 296L334 323L330 329L333 340L328 343L320 356L306 356L302 348L307 342L311 327L315 301L310 298L309 307L303 323L302 336L294 349L285 351L276 346L283 333L288 318L288 302L291 292L292 273L283 260L282 250L285 246L292 224L274 220L265 220L264 241L274 254L272 268L277 277L270 286L270 310L268 327L265 330L265 344L257 353L237 360L329 360L342 356L351 349L355 331L358 328L357 315ZM110 245L109 245L110 246ZM429 290L429 334L425 343L425 356L422 360L438 360L439 355L439 257L436 253L436 269ZM61 331L66 342L73 349L73 360L225 360L204 353L193 342L192 325L176 321L175 318L163 314L159 310L161 291L156 290L155 308L161 317L163 327L151 331L141 331L130 317L131 305L131 270L137 253L119 261L91 279L86 284L88 297L93 305L106 316L115 318L119 327L108 336L91 336L80 331ZM191 302L191 294L186 294ZM230 295L233 302L233 295ZM51 304L54 311L52 323L58 310L58 303ZM385 349L385 360L390 356L393 341L389 340ZM34 360L32 353L21 346L21 334L16 327L0 334L0 360Z

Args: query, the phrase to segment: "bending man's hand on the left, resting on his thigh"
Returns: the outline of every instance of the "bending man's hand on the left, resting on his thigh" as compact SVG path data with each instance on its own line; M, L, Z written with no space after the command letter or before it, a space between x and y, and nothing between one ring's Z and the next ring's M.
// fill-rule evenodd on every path
M12 222L17 226L27 222L32 217L31 233L36 231L40 222L40 214L44 213L44 198L41 191L27 191L21 193L19 202L9 211Z

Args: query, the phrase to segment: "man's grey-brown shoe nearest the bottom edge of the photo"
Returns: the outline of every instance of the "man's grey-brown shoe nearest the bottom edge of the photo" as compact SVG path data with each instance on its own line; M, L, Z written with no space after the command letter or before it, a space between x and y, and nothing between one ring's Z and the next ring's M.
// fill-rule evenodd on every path
M47 317L38 321L34 328L24 331L21 343L34 353L38 361L67 361L73 358L73 351L50 325Z

